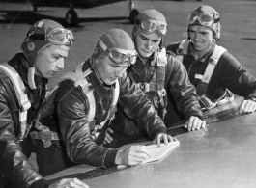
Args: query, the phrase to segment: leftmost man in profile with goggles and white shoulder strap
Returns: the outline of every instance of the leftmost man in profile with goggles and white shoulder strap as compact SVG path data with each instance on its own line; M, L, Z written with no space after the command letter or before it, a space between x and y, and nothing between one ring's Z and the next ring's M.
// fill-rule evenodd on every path
M76 178L53 184L43 179L41 159L47 155L38 152L40 144L30 137L43 106L47 79L64 67L68 56L73 38L66 31L55 21L38 21L23 40L23 52L0 66L0 175L6 188L88 187ZM28 161L36 151L39 172Z

